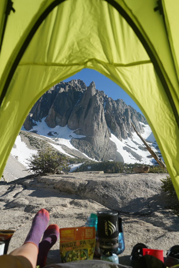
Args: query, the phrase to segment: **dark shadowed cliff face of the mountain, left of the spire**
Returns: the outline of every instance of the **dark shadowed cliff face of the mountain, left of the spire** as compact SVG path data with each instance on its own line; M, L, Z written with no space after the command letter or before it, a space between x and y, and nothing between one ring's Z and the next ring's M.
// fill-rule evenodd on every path
M33 120L38 122L44 117L48 127L66 126L73 107L86 91L83 81L75 81L58 83L45 92L24 121L24 128L30 130L35 125Z

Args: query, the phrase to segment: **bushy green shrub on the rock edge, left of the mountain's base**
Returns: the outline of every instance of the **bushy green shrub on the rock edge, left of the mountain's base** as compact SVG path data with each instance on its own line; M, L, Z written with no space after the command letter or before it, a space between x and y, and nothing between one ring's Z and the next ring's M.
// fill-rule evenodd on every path
M44 173L58 174L62 170L68 169L68 159L63 155L58 155L52 149L45 149L32 155L29 161L29 169L36 175Z

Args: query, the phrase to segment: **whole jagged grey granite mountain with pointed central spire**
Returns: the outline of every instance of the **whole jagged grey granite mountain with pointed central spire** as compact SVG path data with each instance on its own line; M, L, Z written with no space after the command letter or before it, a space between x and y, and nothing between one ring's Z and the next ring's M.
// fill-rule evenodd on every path
M73 138L71 144L97 161L112 159L124 162L110 140L111 133L122 141L132 138L131 122L139 133L144 132L139 121L147 124L146 119L122 99L108 98L103 91L96 90L94 82L87 87L79 79L60 82L50 88L27 116L25 130L31 130L42 118L46 118L50 128L68 126L75 134L86 136ZM48 135L53 136L50 132Z

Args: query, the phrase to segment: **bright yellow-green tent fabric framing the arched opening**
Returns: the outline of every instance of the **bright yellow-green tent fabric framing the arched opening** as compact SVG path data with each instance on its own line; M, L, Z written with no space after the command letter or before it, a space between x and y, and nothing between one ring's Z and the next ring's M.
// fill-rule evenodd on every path
M178 14L177 0L1 0L0 173L37 99L92 68L139 106L179 197Z

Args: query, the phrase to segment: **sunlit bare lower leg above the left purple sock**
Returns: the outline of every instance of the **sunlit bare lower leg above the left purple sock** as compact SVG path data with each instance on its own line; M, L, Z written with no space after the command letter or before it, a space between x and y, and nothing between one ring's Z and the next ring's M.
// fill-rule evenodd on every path
M32 267L36 268L38 248L35 244L26 243L11 252L10 255L23 256L27 258L27 260L30 261L30 263L32 264Z

